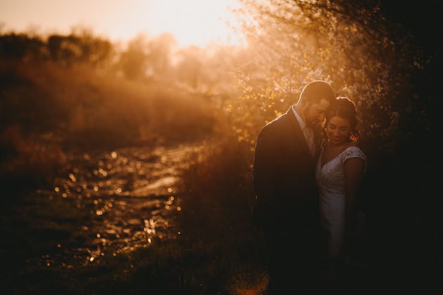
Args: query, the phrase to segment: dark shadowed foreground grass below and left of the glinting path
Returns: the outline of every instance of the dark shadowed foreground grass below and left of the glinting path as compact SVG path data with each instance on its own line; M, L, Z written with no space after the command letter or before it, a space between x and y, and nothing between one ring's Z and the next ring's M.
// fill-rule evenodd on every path
M1 247L3 290L11 294L260 294L266 288L259 235L241 226L228 230L229 238L190 241L193 235L182 232L177 239L155 239L148 248L100 257L87 265L51 262L46 266L45 258L39 262L38 255L47 253L57 260L63 247L81 245L87 238L78 234L78 227L91 217L66 200L30 194L26 204L14 207L15 212L2 214L1 235L8 237Z

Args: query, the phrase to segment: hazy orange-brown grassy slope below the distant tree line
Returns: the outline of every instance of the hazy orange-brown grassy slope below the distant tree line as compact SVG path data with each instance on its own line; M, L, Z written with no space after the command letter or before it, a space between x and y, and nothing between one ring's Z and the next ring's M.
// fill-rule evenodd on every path
M74 147L192 140L212 130L205 97L171 85L130 82L86 65L4 63L2 124L30 134L53 132Z

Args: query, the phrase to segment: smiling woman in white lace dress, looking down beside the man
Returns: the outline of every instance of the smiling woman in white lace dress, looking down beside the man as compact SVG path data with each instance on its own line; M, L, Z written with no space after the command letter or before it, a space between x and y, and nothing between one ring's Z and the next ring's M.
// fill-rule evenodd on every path
M357 122L354 103L338 97L326 114L328 144L321 148L316 167L328 281L340 280L355 234L356 192L366 170L366 155L357 147Z

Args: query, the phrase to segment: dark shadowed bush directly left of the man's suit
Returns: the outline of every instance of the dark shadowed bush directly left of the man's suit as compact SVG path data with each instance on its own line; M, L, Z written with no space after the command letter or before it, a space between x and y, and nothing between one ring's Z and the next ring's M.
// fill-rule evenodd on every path
M251 226L255 197L245 161L250 155L248 145L228 136L207 143L202 153L189 159L180 224L191 241L195 236L212 241L221 233L231 235Z

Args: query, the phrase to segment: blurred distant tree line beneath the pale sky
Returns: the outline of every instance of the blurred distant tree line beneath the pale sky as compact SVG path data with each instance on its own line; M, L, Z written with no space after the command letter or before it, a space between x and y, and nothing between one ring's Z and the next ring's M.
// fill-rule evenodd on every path
M0 34L0 58L8 63L55 63L63 68L87 66L102 75L141 83L176 85L186 91L220 94L235 83L231 73L244 59L234 47L190 46L178 49L174 36L138 34L127 44L111 43L90 30L49 36Z

